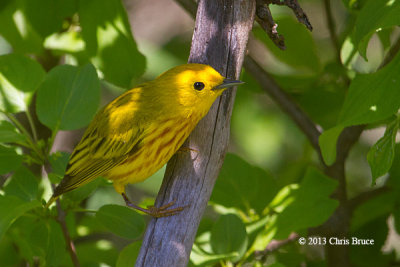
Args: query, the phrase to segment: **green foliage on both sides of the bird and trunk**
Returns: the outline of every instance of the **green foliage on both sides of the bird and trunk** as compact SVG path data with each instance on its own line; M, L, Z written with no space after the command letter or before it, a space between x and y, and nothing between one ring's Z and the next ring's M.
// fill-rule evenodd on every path
M325 19L323 1L303 2L311 22ZM388 190L355 208L350 236L373 238L375 245L351 246L350 258L357 266L386 266L400 258L398 243L395 247L388 238L388 233L393 237L400 232L400 54L379 65L399 35L400 1L342 0L332 1L332 6L341 25L338 51L323 23L313 24L310 33L283 7L272 12L278 32L285 36L286 51L276 48L256 25L256 45L249 50L322 129L319 143L325 164L335 162L337 139L345 127L363 124L377 133L368 138L365 131L352 150L346 169L348 191L357 197L373 190L371 184ZM146 12L145 5L134 7L144 11L130 12ZM162 10L161 15L167 13ZM137 30L151 23L167 24L161 15L159 20L143 21ZM73 265L56 207L43 206L69 159L69 153L52 150L56 137L61 130L85 127L101 95L103 102L109 101L115 92L186 62L191 30L166 32L168 37L158 42L134 39L128 20L132 17L120 0L0 2L2 266ZM293 232L306 237L309 228L326 222L338 207L332 199L338 182L323 174L306 137L251 73L243 71L242 80L246 84L237 91L230 153L189 265L325 266L321 246L301 246L296 240L257 256L273 240L287 239ZM46 127L48 135L41 131ZM371 171L364 167L367 162ZM46 164L52 167L48 179L38 168ZM163 172L129 189L137 202L153 203ZM116 204L123 204L122 199L102 178L61 198L81 266L134 264L146 217Z

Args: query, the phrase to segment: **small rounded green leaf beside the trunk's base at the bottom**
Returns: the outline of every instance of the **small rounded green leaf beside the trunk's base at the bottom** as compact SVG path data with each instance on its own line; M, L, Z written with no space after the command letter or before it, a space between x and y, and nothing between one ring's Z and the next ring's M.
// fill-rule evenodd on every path
M239 260L247 248L246 227L237 215L221 215L211 230L211 247L217 254L236 252L232 260Z

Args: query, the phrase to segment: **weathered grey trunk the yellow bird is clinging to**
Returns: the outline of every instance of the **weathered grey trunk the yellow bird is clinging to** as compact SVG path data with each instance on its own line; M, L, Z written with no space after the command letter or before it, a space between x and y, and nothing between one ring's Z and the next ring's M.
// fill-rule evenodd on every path
M228 78L240 75L254 0L200 0L189 62L209 64ZM236 89L227 90L168 163L156 206L173 200L178 215L150 221L136 266L186 266L200 219L211 196L229 140ZM195 104L195 103L194 103Z

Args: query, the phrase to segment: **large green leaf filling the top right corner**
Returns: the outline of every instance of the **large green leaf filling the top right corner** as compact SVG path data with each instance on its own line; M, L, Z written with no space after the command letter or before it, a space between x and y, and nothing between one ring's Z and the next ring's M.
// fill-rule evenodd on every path
M353 43L365 59L367 59L365 43L368 43L377 30L400 25L399 13L400 2L396 0L368 1L361 9L355 24Z

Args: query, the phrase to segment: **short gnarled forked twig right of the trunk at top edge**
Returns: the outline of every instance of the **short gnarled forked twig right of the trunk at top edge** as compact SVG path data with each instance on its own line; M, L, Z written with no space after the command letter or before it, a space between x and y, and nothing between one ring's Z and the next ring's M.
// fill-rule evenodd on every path
M256 20L258 24L260 24L260 26L268 34L269 38L271 38L274 44L280 49L286 49L285 38L277 31L278 24L274 21L272 17L271 10L269 9L270 4L289 7L290 9L292 9L297 20L300 23L304 24L307 29L312 31L311 23L308 20L306 13L300 7L297 0L257 0Z

